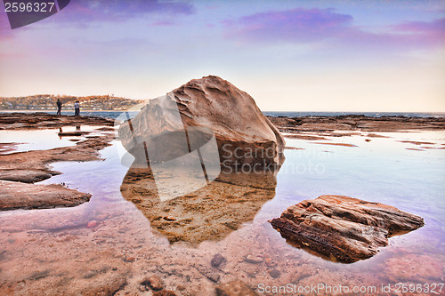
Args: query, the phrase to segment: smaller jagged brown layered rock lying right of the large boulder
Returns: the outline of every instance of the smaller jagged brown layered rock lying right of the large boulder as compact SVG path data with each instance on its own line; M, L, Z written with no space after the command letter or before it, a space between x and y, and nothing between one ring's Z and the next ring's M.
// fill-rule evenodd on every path
M388 244L388 237L420 228L424 220L393 206L348 196L320 196L287 208L271 220L295 244L328 260L364 260Z

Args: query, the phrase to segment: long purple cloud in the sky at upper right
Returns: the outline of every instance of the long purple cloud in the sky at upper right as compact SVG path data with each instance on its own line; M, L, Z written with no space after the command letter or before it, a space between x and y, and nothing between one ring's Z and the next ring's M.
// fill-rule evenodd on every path
M445 19L412 21L370 32L335 9L261 12L225 20L226 36L243 43L326 44L368 50L417 50L445 44Z

